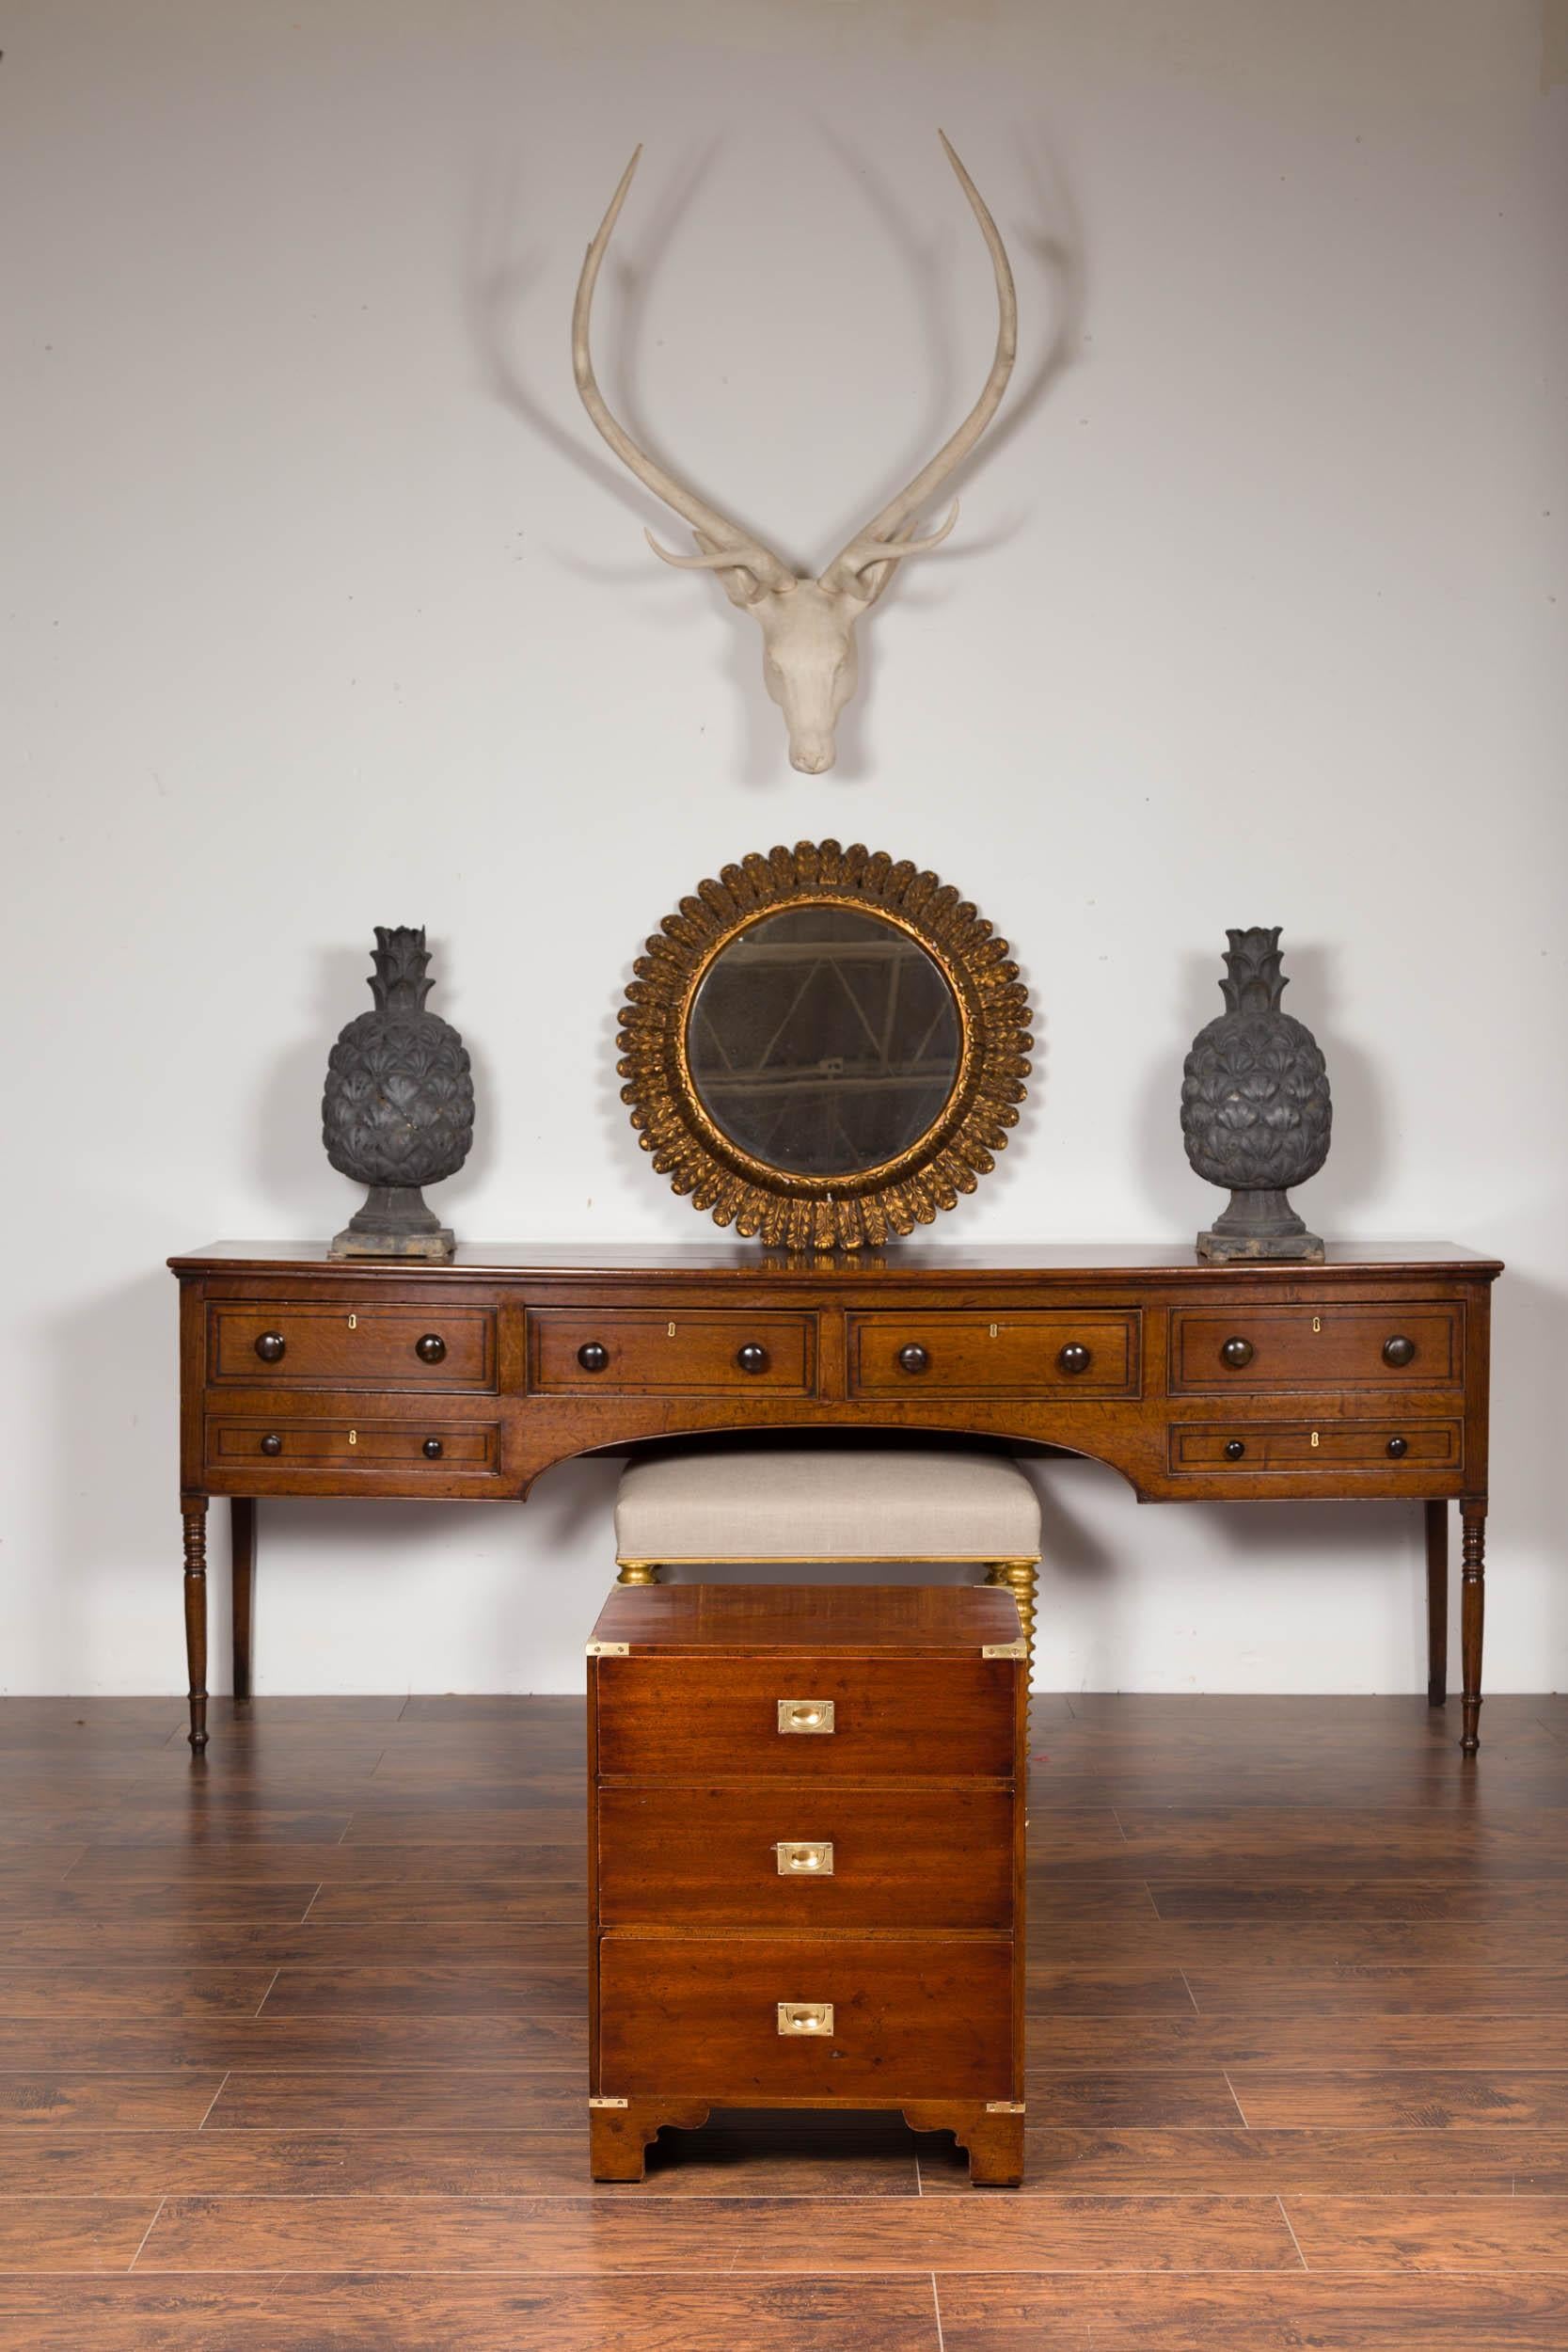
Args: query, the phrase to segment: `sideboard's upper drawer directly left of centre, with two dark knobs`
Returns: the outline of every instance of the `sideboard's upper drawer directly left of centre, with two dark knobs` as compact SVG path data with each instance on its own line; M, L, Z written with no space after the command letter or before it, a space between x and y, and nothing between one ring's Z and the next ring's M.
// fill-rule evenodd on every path
M595 1397L712 1390L809 1397L816 1317L536 1308L529 1315L529 1388Z

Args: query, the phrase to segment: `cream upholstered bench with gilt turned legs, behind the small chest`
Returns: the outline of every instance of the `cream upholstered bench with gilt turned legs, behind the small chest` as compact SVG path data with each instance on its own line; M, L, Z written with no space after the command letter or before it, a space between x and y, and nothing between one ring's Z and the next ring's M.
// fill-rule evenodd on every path
M1034 1661L1039 1496L1004 1454L712 1446L621 1472L623 1585L656 1585L663 1566L769 1559L983 1564L1018 1602Z

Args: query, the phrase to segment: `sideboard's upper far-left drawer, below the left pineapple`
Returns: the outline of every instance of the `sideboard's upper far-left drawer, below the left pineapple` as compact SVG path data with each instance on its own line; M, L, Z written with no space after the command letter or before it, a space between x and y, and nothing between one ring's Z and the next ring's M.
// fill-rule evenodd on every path
M230 1388L494 1390L496 1310L209 1305L207 1378Z

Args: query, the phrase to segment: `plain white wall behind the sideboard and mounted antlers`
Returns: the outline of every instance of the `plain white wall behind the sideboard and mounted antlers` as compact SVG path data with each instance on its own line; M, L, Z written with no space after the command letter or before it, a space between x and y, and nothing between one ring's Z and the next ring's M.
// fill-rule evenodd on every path
M1039 1002L954 1242L1206 1223L1180 1058L1225 927L1284 924L1338 1105L1307 1214L1512 1261L1490 1686L1561 1684L1561 5L0 19L0 1686L183 1686L162 1261L353 1207L317 1101L371 924L428 922L475 1054L440 1195L465 1235L696 1242L616 1101L618 993L701 875L825 833L959 882ZM1023 358L811 781L750 623L642 543L571 287L646 139L607 386L823 560L985 367L938 120L1011 242ZM611 1479L270 1508L261 1686L574 1689ZM1418 1512L1044 1482L1048 1684L1420 1684Z

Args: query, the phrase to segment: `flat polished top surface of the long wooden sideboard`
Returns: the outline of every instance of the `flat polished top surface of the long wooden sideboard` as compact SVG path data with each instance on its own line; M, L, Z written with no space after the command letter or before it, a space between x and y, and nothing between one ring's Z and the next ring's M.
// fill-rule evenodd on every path
M1502 1272L1500 1258L1488 1258L1458 1242L1371 1242L1361 1249L1331 1242L1331 1268L1345 1272L1422 1272L1476 1275L1493 1279ZM223 1275L270 1275L310 1272L343 1275L350 1282L364 1277L397 1277L409 1282L451 1279L454 1275L661 1275L682 1279L755 1279L771 1277L860 1277L882 1275L980 1275L990 1282L1039 1282L1051 1277L1081 1275L1159 1275L1161 1279L1213 1282L1309 1282L1314 1265L1300 1261L1258 1261L1208 1265L1199 1261L1192 1244L1175 1242L990 1242L987 1247L950 1242L898 1242L891 1249L853 1251L771 1251L757 1242L461 1242L456 1256L444 1265L421 1258L329 1258L324 1242L209 1242L169 1258L176 1275L223 1272Z

